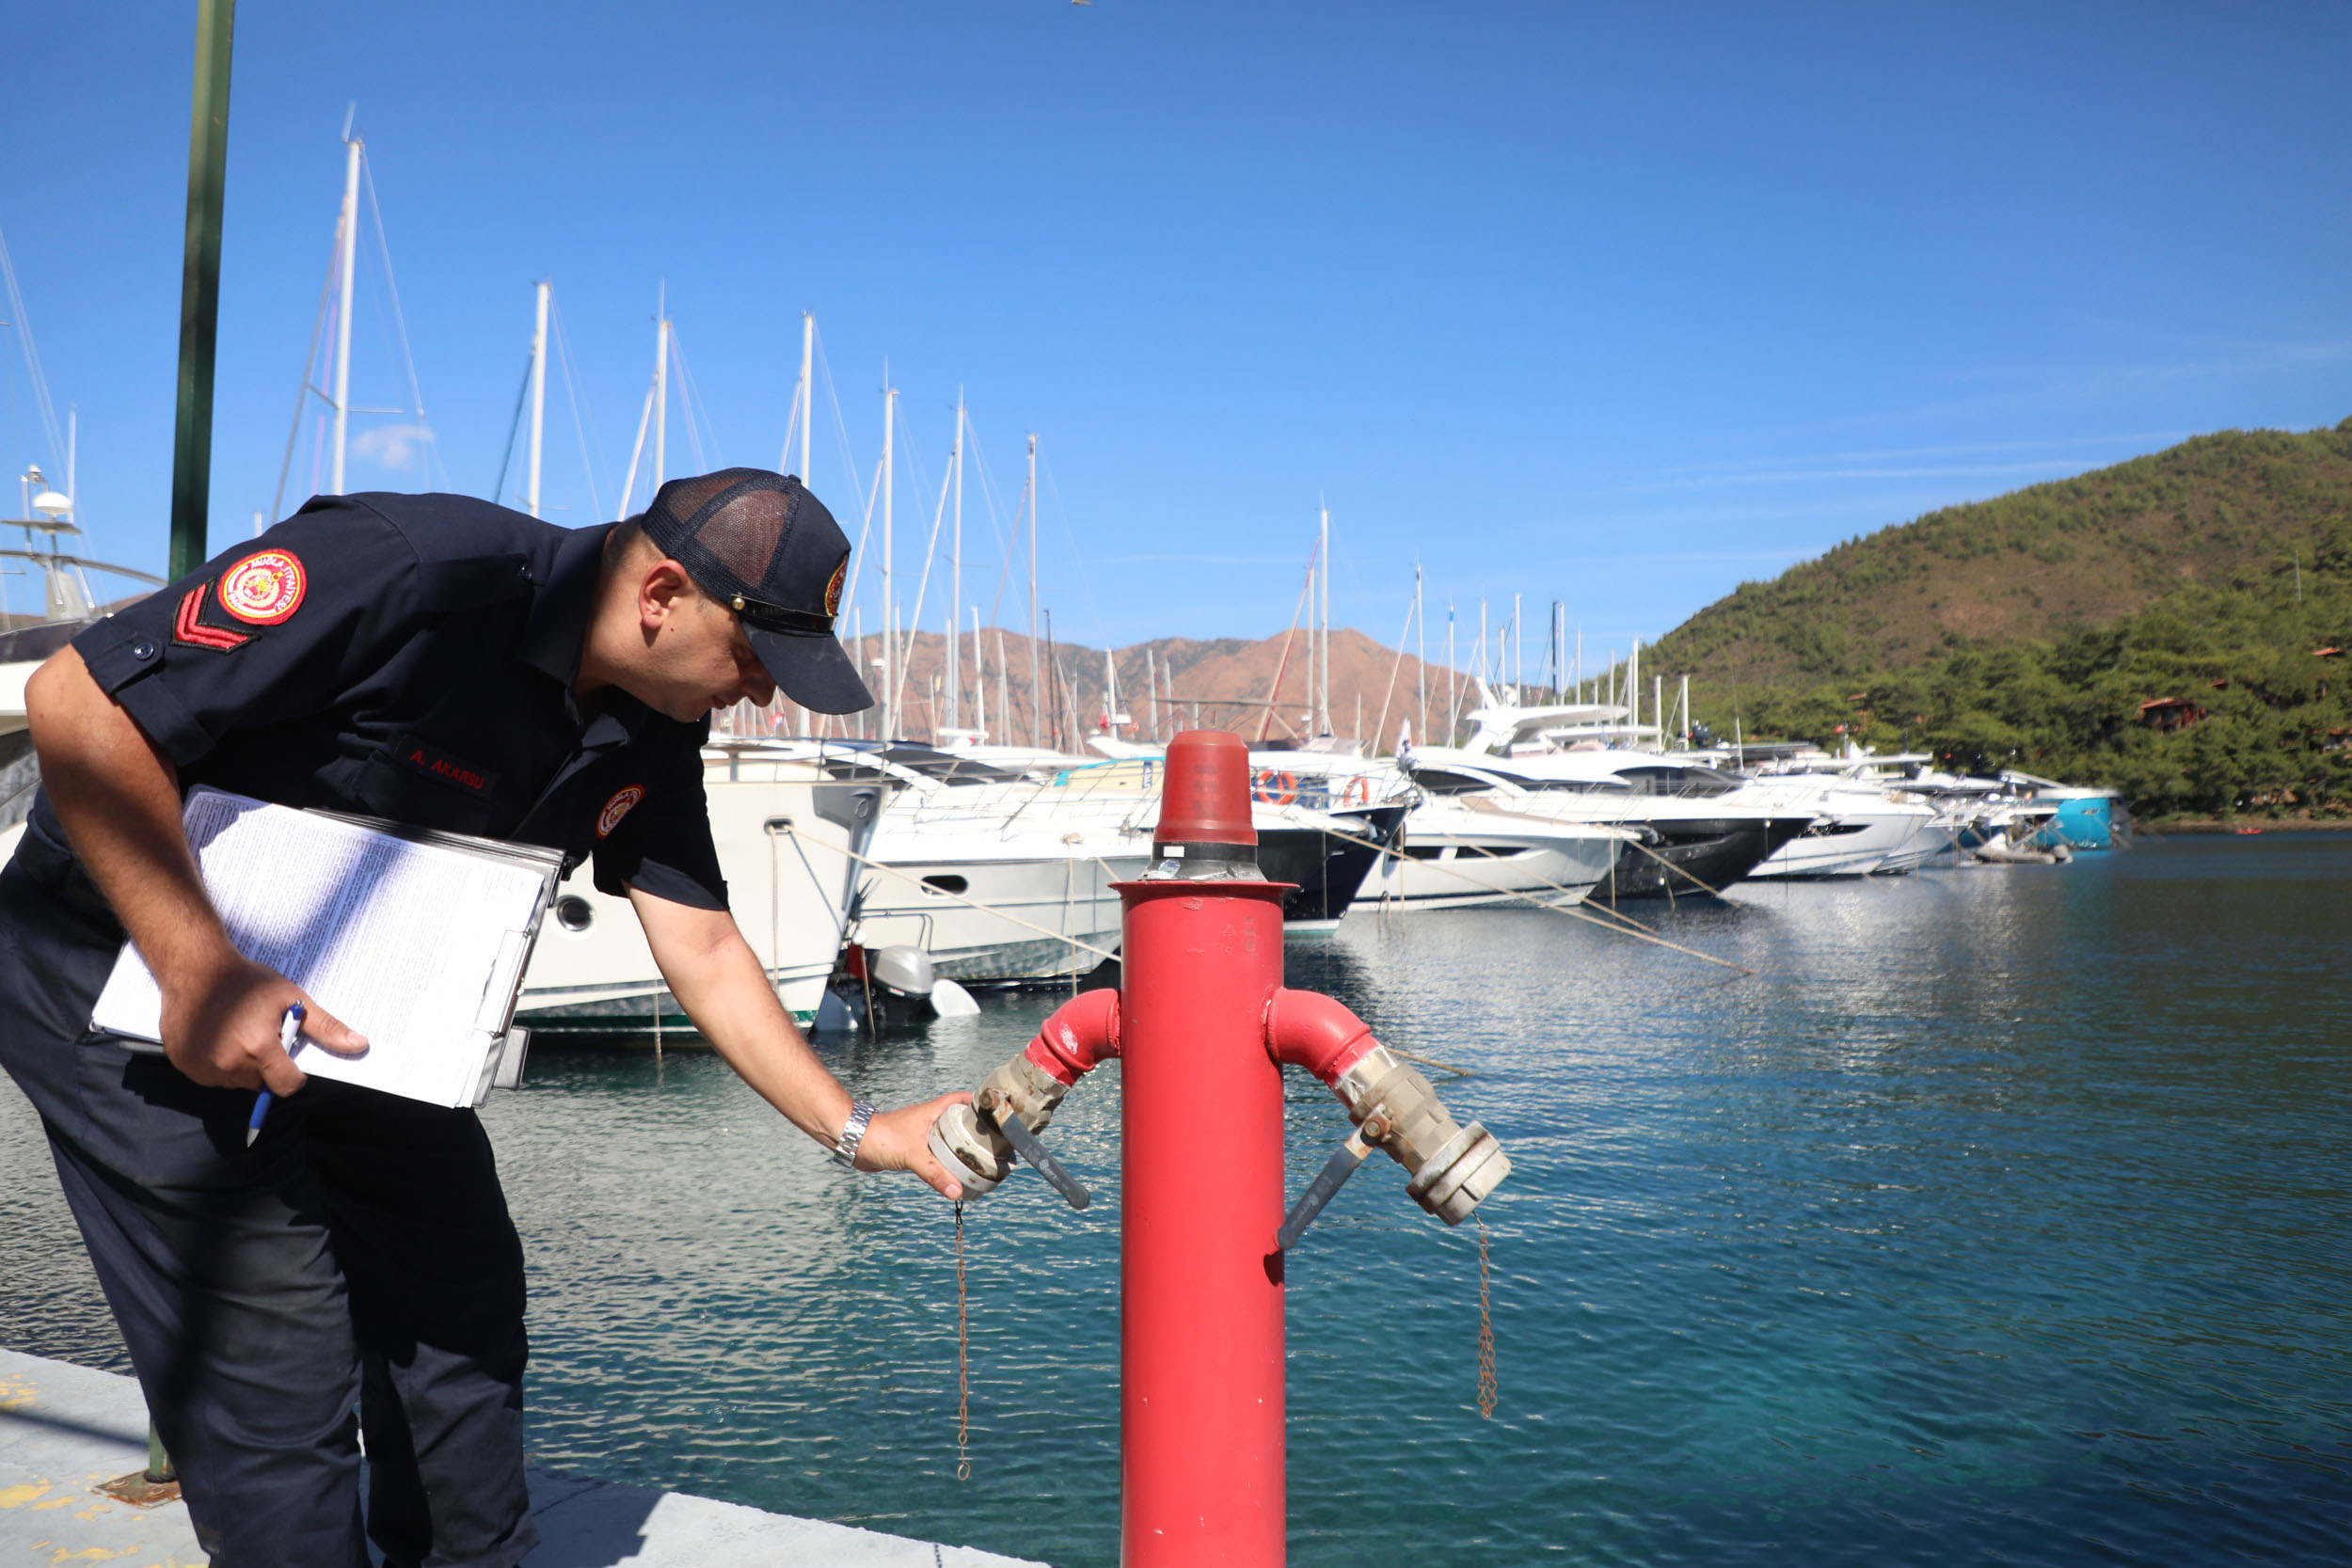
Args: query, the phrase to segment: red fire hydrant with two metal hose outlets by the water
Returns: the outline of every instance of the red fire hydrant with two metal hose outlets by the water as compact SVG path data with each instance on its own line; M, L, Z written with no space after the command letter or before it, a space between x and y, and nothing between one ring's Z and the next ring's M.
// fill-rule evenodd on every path
M931 1152L969 1197L1025 1157L1073 1204L1084 1190L1037 1145L1080 1074L1124 1063L1120 1246L1120 1561L1284 1561L1282 1258L1371 1147L1458 1225L1510 1173L1428 1079L1345 1006L1282 990L1282 893L1256 865L1249 750L1188 731L1167 752L1152 870L1124 900L1122 990L1056 1009L1028 1048L948 1110ZM1355 1133L1282 1213L1282 1065L1329 1084Z

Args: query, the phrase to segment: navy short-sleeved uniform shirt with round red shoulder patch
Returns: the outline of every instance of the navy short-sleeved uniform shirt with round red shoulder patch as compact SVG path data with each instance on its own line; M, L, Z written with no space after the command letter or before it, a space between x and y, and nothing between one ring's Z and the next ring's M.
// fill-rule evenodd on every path
M572 696L609 531L470 496L318 496L73 646L183 792L546 844L564 870L593 856L607 893L724 910L710 722ZM33 818L64 842L47 802Z

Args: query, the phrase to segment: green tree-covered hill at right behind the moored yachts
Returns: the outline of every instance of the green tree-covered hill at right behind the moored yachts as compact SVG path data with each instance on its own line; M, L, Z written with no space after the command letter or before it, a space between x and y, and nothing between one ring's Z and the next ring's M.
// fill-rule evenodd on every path
M2352 418L2227 430L1849 541L1661 639L1729 733L2352 811ZM2204 710L2178 731L2143 703Z

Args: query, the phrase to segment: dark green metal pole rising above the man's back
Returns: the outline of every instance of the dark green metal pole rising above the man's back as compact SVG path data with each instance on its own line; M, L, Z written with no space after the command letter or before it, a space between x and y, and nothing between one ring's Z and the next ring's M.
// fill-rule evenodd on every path
M212 498L212 350L221 331L221 193L228 183L228 38L238 0L195 0L195 103L188 115L188 256L179 280L179 416L172 428L172 557L205 564Z

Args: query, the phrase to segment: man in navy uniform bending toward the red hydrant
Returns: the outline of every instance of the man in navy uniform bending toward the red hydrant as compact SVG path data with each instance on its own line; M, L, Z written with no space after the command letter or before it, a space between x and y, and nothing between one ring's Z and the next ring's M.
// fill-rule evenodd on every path
M242 957L181 835L214 785L593 858L727 1063L858 1171L915 1171L950 1100L875 1114L816 1060L727 914L710 710L873 698L833 637L849 541L800 480L729 468L560 529L466 496L325 496L87 628L26 689L42 792L0 872L0 1063L223 1568L496 1566L522 1488L522 1246L470 1110L320 1079L365 1041ZM89 1027L125 936L162 1056ZM254 1093L285 1095L247 1147ZM299 1091L299 1093L296 1093ZM353 1408L358 1406L358 1422Z

